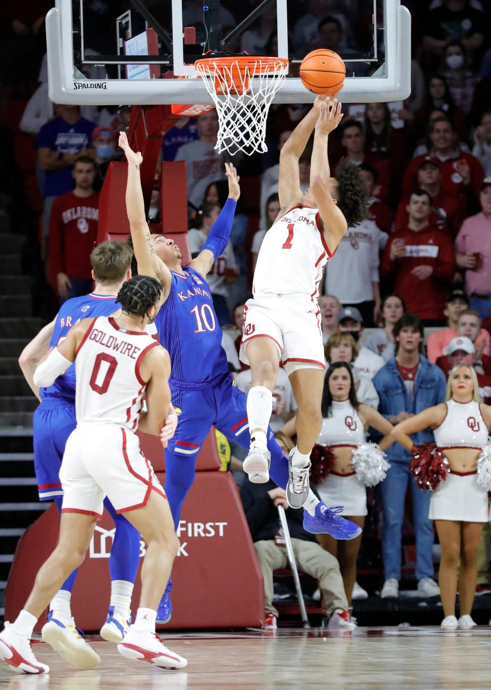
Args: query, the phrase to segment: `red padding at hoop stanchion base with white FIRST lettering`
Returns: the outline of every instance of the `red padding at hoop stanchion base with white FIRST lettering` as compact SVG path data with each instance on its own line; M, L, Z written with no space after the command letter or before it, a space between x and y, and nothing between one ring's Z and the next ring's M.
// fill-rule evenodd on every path
M162 484L165 475L159 474ZM19 541L6 591L6 620L15 620L34 578L57 542L59 520L52 506ZM260 627L264 618L263 578L242 504L228 472L200 472L179 522L181 548L174 561L172 620L161 629ZM86 560L79 568L72 611L84 631L98 631L110 597L109 555L114 524L106 511L97 523ZM141 544L141 556L145 544ZM140 593L137 575L133 595ZM36 630L46 621L43 614Z

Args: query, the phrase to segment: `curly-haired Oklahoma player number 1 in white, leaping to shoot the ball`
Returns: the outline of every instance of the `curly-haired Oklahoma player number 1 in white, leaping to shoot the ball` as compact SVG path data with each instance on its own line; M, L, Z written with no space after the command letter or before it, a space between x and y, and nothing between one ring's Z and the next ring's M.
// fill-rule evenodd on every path
M246 304L241 343L241 359L252 369L248 393L251 445L244 470L252 482L268 480L266 429L281 360L298 405L297 446L289 457L287 498L292 507L304 505L311 517L320 509L314 494L309 493L308 470L322 424L325 370L317 305L319 282L341 237L366 213L366 193L358 168L341 161L336 178L330 177L328 135L342 117L337 99L317 97L281 149L281 210L259 251L254 297ZM310 188L303 194L299 158L314 128Z

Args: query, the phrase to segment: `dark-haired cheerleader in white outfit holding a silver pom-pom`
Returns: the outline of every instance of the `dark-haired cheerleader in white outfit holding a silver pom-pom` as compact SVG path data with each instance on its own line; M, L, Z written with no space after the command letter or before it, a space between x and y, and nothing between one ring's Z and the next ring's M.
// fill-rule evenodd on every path
M348 517L363 529L367 514L367 482L373 486L385 477L388 463L374 444L365 445L365 428L373 426L383 434L380 450L385 451L393 442L392 424L374 408L363 405L357 400L353 374L349 364L335 362L329 367L324 380L322 395L322 428L317 444L328 446L330 457L329 473L315 484L321 500L328 506L343 506L343 517ZM359 466L354 462L357 449L363 447L363 457ZM327 450L327 449L326 449ZM361 449L360 449L361 450ZM374 453L375 450L375 453ZM370 457L372 456L372 457ZM352 464L353 460L353 464ZM374 462L370 462L374 460ZM312 461L313 471L315 461ZM363 469L377 465L382 471L369 472L371 480L363 476ZM357 471L354 470L357 467ZM377 478L374 479L374 475ZM361 544L361 535L349 542L337 541L327 534L317 535L325 551L336 556L343 577L344 589L348 604L351 606L354 582L357 578L357 555Z

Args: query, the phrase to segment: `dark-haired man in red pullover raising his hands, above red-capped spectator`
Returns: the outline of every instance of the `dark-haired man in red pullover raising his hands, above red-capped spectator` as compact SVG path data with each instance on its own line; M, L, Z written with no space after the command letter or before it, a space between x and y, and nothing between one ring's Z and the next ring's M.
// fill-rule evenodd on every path
M446 193L475 203L484 179L483 166L478 159L456 147L457 137L452 123L446 117L436 117L430 126L432 149L428 153L441 162L441 188ZM408 197L417 187L418 170L425 155L412 159L406 168L402 192Z

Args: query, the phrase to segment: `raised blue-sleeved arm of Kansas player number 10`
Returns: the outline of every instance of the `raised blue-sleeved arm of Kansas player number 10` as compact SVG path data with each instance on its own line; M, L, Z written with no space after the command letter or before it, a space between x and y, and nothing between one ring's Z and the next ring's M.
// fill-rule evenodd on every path
M210 228L203 249L196 259L192 259L189 264L203 276L206 276L213 266L213 262L226 250L234 222L237 199L241 195L240 177L237 175L237 170L231 163L226 163L225 172L228 179L228 199L220 211L219 217Z

